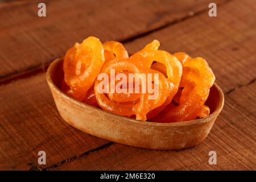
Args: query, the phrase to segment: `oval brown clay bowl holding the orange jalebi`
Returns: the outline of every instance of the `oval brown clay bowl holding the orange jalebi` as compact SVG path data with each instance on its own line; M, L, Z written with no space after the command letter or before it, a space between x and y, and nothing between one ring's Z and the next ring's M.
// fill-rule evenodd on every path
M176 123L143 122L86 105L61 92L63 58L51 63L46 77L57 110L66 122L96 137L136 147L175 150L195 146L207 137L224 105L224 94L214 84L206 103L212 112L208 117Z

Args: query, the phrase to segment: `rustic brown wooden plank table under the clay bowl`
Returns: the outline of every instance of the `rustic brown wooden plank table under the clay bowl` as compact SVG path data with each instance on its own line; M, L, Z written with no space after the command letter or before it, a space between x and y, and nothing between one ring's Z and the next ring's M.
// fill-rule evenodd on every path
M256 1L42 1L0 3L0 169L256 169ZM185 150L125 146L83 133L61 119L46 68L93 35L134 53L153 39L161 49L204 57L225 92L207 139ZM46 165L38 151L46 151ZM209 151L217 164L208 163Z

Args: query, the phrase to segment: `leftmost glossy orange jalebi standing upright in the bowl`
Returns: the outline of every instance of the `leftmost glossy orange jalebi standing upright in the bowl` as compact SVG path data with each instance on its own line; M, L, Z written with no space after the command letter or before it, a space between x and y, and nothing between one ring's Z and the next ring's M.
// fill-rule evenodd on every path
M69 49L63 63L64 80L69 86L68 94L77 100L84 100L104 61L104 48L100 40L93 36Z

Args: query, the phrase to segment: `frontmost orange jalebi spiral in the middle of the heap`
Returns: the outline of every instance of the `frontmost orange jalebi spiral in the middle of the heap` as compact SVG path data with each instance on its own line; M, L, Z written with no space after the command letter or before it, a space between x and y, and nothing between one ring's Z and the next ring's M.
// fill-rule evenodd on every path
M127 117L131 117L132 115L136 116L136 119L146 121L146 114L152 110L155 109L155 107L158 107L163 104L163 102L167 98L168 92L166 92L166 89L168 88L168 82L167 79L164 77L164 75L158 71L154 71L151 69L148 69L146 67L143 67L141 64L147 61L143 57L130 57L127 59L118 59L118 60L112 60L109 61L102 67L101 73L106 73L108 75L108 86L102 87L102 80L103 77L98 78L95 81L94 84L94 90L96 94L96 100L98 102L98 105L102 107L102 109L110 111L115 114L124 115ZM134 73L133 80L126 81L126 84L123 86L124 88L132 89L132 92L129 93L129 90L127 89L128 93L111 93L111 69L114 69L115 75L117 73L123 73L124 75L129 75L129 73ZM154 80L154 76L152 76L151 82L148 82L146 80L146 77L143 77L142 74L147 75L147 73L151 73L154 75L154 73L158 73L159 79ZM104 78L103 80L105 80ZM137 81L139 80L139 93L134 93L135 87L130 88L129 82L134 82L134 79ZM142 83L152 84L154 86L158 86L158 96L155 99L149 100L148 96L151 94L146 92L142 92ZM116 88L116 83L113 83ZM102 89L105 89L105 92L102 92ZM110 92L110 93L109 93ZM108 93L107 95L105 93Z

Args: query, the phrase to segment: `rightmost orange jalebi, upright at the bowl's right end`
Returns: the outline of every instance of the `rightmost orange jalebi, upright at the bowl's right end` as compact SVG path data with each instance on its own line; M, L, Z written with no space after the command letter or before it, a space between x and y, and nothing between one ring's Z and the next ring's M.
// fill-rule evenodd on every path
M174 56L183 65L180 89L174 97L176 105L171 103L152 121L179 122L206 117L210 110L204 104L215 80L212 69L201 57L192 59L183 52L176 53Z

